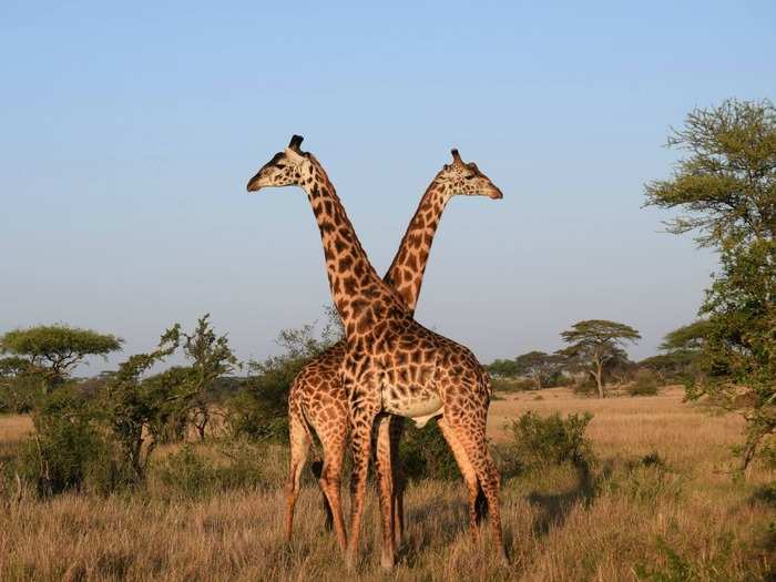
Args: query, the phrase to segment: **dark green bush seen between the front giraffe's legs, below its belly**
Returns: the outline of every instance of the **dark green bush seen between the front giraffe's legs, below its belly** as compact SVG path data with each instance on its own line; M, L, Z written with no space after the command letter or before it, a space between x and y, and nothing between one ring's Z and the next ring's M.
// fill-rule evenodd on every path
M405 428L399 459L407 479L459 480L456 458L436 420L423 428L413 423Z

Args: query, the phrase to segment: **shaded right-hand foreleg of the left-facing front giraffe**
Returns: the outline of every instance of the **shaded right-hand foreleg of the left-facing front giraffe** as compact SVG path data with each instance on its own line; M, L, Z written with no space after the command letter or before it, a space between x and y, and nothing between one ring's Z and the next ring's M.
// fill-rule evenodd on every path
M394 523L396 510L396 497L394 493L394 462L390 441L391 417L381 415L376 420L377 446L375 447L375 468L377 473L377 488L380 499L380 525L382 530L382 549L380 565L390 570L394 568L396 548Z

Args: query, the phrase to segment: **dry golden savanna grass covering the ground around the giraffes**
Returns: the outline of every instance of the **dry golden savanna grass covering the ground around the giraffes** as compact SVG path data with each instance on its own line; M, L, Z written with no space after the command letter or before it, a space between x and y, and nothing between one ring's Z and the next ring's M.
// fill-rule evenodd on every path
M762 467L746 480L731 473L738 417L685 404L678 387L605 400L559 388L501 395L490 412L493 442L527 410L592 412L596 460L504 480L508 566L494 560L487 530L470 540L458 482L409 486L406 539L390 574L378 565L374 494L356 574L324 531L310 478L286 545L286 457L277 447L256 458L263 484L226 492L175 494L151 479L142 493L40 501L9 487L0 498L0 580L776 580L772 476ZM30 428L25 417L0 417L0 462Z

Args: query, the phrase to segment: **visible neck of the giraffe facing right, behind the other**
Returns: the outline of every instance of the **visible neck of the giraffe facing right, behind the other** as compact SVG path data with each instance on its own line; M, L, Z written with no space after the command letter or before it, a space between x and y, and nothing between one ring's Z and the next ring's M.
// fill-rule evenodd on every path
M435 184L428 187L384 277L398 292L410 313L415 313L418 304L433 235L448 200L449 196Z

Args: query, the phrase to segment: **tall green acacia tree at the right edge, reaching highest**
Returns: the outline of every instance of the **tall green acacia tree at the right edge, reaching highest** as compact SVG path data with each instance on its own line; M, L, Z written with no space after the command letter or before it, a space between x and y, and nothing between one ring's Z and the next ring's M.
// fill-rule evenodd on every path
M697 109L667 145L687 155L670 178L645 185L646 205L681 211L668 231L694 232L721 256L701 307L704 378L688 396L743 412L746 468L776 431L776 108L728 100ZM742 387L749 397L737 398Z

